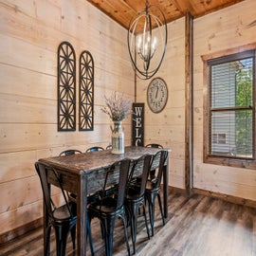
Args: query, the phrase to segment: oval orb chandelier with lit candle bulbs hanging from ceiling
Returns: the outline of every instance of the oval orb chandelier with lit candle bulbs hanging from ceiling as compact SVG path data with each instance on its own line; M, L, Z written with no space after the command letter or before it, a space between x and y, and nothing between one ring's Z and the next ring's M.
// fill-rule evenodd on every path
M162 10L149 6L146 0L146 8L130 21L127 41L137 77L152 78L162 64L167 46L167 25Z

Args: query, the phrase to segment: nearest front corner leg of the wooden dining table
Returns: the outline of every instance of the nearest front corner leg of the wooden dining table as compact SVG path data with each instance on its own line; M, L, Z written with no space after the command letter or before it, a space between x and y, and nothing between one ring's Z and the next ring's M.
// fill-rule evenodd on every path
M87 210L87 175L81 174L78 182L78 220L77 220L77 254L86 255L86 240L87 240L87 226L86 226L86 210Z

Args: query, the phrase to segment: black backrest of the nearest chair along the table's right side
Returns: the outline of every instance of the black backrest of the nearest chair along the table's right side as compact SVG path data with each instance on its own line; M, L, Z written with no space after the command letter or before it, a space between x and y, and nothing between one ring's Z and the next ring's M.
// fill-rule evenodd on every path
M116 210L119 210L119 208L121 208L124 203L124 196L126 192L126 185L127 185L128 174L130 170L130 162L131 160L128 158L117 161L107 169L105 174L103 194L105 194L109 184L112 184L111 180L113 179L113 175L117 175L117 172L119 175L119 190L118 190Z

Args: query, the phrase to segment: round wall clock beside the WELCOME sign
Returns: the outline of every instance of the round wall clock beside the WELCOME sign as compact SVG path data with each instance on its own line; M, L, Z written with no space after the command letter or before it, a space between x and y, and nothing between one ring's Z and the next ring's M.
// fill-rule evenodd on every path
M150 109L154 113L161 112L168 100L168 89L166 83L160 79L155 78L150 82L147 91L147 101Z

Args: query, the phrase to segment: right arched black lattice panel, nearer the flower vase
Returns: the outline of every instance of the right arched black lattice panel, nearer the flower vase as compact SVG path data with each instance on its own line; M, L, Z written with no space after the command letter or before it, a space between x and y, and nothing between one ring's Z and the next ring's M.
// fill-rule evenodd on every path
M80 56L79 87L79 130L93 131L94 128L94 61L89 51Z

